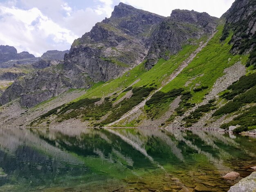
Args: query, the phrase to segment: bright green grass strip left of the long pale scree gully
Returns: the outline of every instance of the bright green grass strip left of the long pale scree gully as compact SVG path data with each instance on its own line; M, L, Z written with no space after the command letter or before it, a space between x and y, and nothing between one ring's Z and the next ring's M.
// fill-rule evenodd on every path
M160 59L159 62L149 71L144 68L144 63L141 63L137 67L126 72L123 76L115 80L110 80L92 91L88 90L85 95L75 99L74 101L82 98L101 98L108 96L111 93L121 92L138 79L140 79L139 82L133 87L154 86L157 88L161 85L162 80L177 69L182 61L185 60L197 47L198 45L186 45L182 51L180 51L177 55L171 56L169 60L166 61L164 59ZM121 98L121 96L124 94L125 93L120 94L119 98Z

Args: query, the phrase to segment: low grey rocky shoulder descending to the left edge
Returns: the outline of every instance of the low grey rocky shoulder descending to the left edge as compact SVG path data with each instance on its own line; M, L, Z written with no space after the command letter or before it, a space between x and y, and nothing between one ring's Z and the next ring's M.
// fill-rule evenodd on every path
M48 67L40 71L34 71L16 80L2 94L0 104L3 105L20 97L20 105L33 107L70 88L76 87L63 75L61 69L56 69L54 66Z

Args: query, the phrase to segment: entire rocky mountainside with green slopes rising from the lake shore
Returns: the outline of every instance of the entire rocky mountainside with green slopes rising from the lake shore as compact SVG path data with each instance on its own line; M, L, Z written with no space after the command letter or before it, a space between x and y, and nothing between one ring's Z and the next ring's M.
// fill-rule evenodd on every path
M236 0L220 19L120 3L62 63L5 90L2 125L255 129L254 44L243 51L255 35L252 2Z

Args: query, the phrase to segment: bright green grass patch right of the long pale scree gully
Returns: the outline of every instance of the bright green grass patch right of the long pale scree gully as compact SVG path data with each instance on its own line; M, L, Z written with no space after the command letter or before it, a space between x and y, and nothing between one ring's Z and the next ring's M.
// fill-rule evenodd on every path
M186 91L189 91L191 87L195 87L196 83L203 85L204 87L208 86L208 88L202 89L201 91L191 92L191 102L200 103L202 102L204 95L211 90L216 80L224 75L223 71L225 68L234 65L239 60L245 65L248 55L233 56L229 52L231 45L229 45L228 42L232 34L230 34L224 42L220 42L222 28L223 25L218 26L218 32L209 41L208 45L197 54L193 61L185 67L174 80L163 87L162 92L168 92L174 88L180 87L184 87ZM231 58L231 60L228 62L229 58ZM185 87L185 83L191 78L195 79L191 80L192 83L189 84L188 87Z

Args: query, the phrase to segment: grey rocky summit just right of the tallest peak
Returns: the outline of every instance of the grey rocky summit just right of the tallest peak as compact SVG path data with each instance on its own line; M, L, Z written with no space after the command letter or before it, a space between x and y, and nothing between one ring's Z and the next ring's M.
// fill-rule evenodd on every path
M217 18L208 13L175 9L154 31L148 45L146 67L150 69L159 58L169 59L177 54L182 45L191 39L200 39L202 35L212 34L217 26Z

